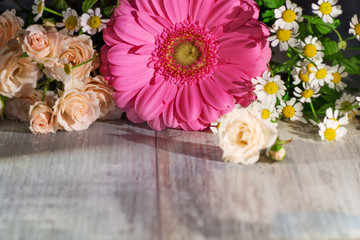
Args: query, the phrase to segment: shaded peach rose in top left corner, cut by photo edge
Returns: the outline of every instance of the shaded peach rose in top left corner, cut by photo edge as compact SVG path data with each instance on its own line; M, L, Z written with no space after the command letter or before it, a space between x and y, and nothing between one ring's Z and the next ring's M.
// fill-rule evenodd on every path
M15 16L15 13L15 10L6 10L0 15L0 48L10 39L15 39L24 25L24 21Z

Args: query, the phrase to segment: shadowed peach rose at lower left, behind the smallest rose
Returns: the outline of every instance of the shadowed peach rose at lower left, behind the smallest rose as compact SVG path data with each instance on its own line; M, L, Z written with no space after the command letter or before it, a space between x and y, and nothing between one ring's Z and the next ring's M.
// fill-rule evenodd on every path
M5 103L4 113L5 116L12 120L29 121L29 109L31 105L41 101L43 91L31 89L24 92L21 96L8 99ZM45 102L49 106L54 106L56 95L52 91L47 91Z

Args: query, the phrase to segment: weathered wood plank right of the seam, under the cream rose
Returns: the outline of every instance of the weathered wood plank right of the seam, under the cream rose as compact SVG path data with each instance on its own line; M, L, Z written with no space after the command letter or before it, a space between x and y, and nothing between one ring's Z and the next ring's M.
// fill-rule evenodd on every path
M280 124L293 138L282 163L218 162L212 133L158 133L162 235L168 239L359 239L360 131L319 142L306 125ZM306 138L304 138L306 137Z

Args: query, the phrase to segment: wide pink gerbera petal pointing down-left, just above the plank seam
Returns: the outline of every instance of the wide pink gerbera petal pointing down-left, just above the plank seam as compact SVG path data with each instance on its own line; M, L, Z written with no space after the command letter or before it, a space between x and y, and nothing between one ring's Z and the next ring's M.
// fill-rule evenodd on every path
M163 101L167 91L168 85L166 82L145 86L139 92L135 101L135 111L139 117L146 121L157 118L165 108Z

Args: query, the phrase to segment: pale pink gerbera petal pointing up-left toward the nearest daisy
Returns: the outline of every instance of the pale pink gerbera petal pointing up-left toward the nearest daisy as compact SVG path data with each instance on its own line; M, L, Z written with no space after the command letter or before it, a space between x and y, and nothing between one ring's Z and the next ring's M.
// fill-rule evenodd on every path
M154 35L139 25L132 16L119 16L114 25L115 33L125 42L133 45L155 43Z

